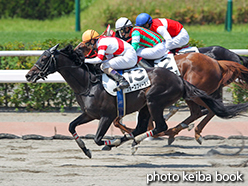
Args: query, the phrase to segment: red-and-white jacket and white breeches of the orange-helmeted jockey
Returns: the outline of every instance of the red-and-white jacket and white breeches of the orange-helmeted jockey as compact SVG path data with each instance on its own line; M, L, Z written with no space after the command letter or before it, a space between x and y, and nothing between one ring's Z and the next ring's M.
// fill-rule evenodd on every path
M137 64L137 55L134 48L117 37L101 36L96 43L98 53L95 58L85 59L85 63L102 63L101 69L113 68L116 70L134 67ZM107 58L103 60L104 56Z

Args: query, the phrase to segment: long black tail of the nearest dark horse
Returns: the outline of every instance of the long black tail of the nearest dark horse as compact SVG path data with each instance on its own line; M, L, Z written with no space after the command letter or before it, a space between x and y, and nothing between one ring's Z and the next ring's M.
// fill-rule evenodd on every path
M196 88L194 85L190 84L182 78L184 82L185 94L184 99L192 99L199 97L201 100L217 115L221 118L233 118L240 115L248 109L248 102L236 105L224 106L220 99L214 99L213 97L207 95L203 90Z

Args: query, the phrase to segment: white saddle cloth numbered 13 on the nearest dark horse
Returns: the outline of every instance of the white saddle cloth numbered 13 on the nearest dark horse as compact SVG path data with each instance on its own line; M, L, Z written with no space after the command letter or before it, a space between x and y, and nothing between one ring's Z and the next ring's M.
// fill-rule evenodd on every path
M122 76L129 82L130 86L123 89L123 93L130 93L136 90L146 88L151 85L147 72L144 68L135 67L132 69L124 70ZM116 81L109 78L106 74L102 75L102 84L104 89L112 96L116 96L117 93L113 89L117 86Z

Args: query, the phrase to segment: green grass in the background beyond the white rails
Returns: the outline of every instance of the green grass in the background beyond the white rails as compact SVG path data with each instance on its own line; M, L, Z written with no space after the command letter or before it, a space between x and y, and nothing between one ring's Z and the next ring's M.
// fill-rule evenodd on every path
M82 0L81 0L82 1ZM148 4L151 0L137 0L134 4ZM75 16L68 15L53 20L27 20L27 19L0 19L0 44L8 42L34 42L45 41L47 39L73 39L81 38L82 33L87 29L95 29L99 33L105 30L103 10L107 6L114 6L120 0L94 0L91 6L80 14L81 31L75 31ZM154 1L153 1L154 2ZM164 3L168 10L175 9L174 0L162 1L156 3ZM200 8L206 0L179 0L177 8L192 5ZM214 7L215 3L225 6L226 2L219 0L207 1L207 6ZM131 0L127 0L125 5L131 4ZM244 4L245 0L240 0L239 4ZM170 6L169 6L170 5ZM237 3L234 3L234 7ZM219 7L219 6L218 6ZM167 11L168 11L167 10ZM126 15L122 15L126 16ZM184 25L191 38L202 41L206 46L220 45L225 48L248 48L248 24L233 25L231 32L224 30L224 25Z

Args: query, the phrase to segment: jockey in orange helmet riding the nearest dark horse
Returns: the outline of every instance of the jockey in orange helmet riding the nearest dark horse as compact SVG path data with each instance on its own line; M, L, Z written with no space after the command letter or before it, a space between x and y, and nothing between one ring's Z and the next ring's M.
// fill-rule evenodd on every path
M97 56L86 58L85 63L102 63L101 70L119 82L114 91L129 87L128 81L115 70L132 68L136 65L137 55L133 47L117 37L100 36L95 30L85 31L82 40L87 47L98 50ZM103 60L104 57L107 59Z

